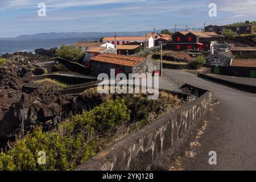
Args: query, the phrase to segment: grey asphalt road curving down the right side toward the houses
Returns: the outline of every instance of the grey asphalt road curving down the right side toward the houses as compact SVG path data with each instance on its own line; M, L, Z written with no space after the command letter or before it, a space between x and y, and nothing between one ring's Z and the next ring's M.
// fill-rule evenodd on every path
M205 117L207 127L195 156L181 163L185 170L256 170L256 94L203 80L185 71L164 69L187 84L214 90L219 103ZM216 151L217 165L209 165Z

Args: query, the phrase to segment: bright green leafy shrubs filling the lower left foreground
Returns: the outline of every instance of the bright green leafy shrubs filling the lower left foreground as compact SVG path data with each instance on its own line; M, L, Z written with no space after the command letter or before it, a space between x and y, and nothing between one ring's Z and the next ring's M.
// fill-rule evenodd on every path
M0 154L0 170L71 170L100 150L98 138L113 134L118 125L130 120L124 100L108 100L91 111L83 111L58 129L43 132L42 127L16 140L9 151ZM46 152L46 165L38 164L38 152Z

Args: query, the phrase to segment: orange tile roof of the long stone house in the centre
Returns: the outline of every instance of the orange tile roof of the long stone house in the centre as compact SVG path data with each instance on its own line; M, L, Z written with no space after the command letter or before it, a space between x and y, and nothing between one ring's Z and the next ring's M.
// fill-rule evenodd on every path
M112 55L112 54L105 53L103 55L95 56L91 60L133 67L134 65L143 61L144 57Z

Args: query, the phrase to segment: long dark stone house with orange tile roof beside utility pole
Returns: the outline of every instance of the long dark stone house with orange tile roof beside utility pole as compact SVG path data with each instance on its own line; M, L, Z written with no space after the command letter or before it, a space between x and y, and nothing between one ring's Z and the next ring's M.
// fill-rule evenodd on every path
M115 69L115 75L124 73L129 76L129 73L154 73L159 71L160 64L144 57L104 53L90 60L90 68L93 76L98 76L100 73L110 76L110 69Z

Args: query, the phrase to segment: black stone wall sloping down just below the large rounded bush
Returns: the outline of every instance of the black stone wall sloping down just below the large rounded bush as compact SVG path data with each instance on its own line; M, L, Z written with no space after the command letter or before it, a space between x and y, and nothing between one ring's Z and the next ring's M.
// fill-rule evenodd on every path
M61 57L57 57L56 61L59 61L61 64L64 64L68 69L70 69L73 72L81 73L82 75L90 75L90 68L87 68L84 65L69 61L67 59L63 59Z

